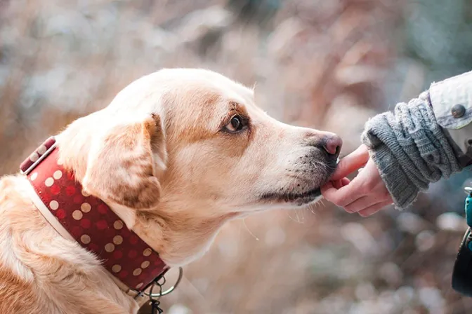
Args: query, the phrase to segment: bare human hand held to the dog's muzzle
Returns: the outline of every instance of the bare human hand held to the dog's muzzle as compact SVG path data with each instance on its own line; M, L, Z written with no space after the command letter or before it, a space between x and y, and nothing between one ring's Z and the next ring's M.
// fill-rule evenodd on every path
M352 181L346 178L362 167ZM362 217L370 216L393 203L379 170L369 157L367 146L363 144L341 159L331 181L322 186L321 193L325 199L343 207L346 212L358 212Z

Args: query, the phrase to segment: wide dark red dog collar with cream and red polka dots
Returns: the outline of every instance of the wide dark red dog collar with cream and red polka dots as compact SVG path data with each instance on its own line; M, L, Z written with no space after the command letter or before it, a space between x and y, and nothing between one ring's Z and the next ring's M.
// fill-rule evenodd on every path
M58 164L58 151L50 137L20 165L21 173L72 238L119 281L142 292L169 267L103 200L82 191L74 175Z

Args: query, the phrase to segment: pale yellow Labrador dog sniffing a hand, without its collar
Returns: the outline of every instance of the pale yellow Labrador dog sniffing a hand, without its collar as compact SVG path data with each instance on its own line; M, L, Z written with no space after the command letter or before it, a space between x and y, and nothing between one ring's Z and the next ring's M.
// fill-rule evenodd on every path
M202 256L226 221L315 202L341 148L332 133L270 118L253 90L203 69L139 78L55 141L58 161L86 195L169 267ZM0 181L0 313L136 313L103 261L61 236L34 193L25 175Z

